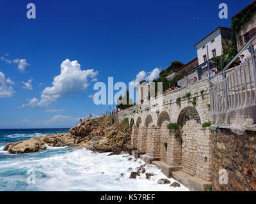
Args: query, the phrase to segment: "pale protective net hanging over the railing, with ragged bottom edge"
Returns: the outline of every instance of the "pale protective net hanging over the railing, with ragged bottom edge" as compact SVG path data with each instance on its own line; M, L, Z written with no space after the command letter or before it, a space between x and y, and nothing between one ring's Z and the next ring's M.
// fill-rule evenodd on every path
M255 118L255 55L243 64L225 71L226 78L218 76L212 80L210 88L211 115L214 124L230 126L238 135L243 135L244 126L253 124Z

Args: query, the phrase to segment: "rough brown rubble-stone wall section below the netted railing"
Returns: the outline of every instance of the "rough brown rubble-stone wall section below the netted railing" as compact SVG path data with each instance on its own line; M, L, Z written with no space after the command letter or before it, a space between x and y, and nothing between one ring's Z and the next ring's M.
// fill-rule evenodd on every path
M253 131L254 130L254 131ZM214 191L256 191L256 132L240 136L230 129L218 129L212 140L212 182Z

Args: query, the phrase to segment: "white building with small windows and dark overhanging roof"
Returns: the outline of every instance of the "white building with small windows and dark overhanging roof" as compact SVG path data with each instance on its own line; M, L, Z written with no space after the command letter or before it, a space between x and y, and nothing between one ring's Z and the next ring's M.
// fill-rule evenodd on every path
M195 47L197 49L198 64L200 65L207 62L207 45L209 59L220 56L223 54L224 40L231 40L231 36L232 29L227 27L218 27L218 29L196 43Z

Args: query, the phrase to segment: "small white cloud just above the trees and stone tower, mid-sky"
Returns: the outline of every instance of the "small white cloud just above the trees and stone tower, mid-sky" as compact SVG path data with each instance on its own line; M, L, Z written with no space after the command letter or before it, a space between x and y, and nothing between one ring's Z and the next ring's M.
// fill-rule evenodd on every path
M140 71L136 78L131 81L131 85L138 85L141 81L146 80L147 82L152 82L155 78L159 77L160 69L155 68L150 72Z

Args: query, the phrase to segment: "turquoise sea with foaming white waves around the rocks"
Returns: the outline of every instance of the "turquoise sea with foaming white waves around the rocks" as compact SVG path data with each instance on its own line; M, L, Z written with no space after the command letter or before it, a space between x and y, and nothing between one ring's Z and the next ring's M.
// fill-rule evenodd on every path
M49 147L28 154L4 151L8 142L19 142L51 133L68 133L69 129L0 129L0 191L188 191L182 186L157 184L168 179L156 166L145 166L141 173L129 179L144 162L129 154L109 156L88 149L67 150ZM175 182L174 179L169 179Z

